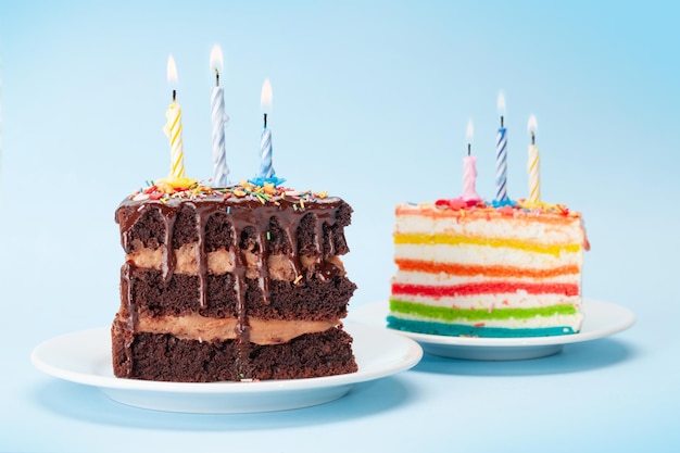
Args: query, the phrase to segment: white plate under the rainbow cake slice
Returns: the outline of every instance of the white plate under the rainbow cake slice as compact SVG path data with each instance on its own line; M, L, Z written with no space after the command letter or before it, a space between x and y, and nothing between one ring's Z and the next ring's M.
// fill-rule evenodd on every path
M635 315L628 309L610 302L584 299L582 302L583 326L574 335L526 338L471 338L413 334L387 328L389 303L376 302L361 306L350 318L374 327L398 332L416 340L427 352L453 358L480 361L514 361L537 358L556 354L564 344L595 340L626 330L635 323Z

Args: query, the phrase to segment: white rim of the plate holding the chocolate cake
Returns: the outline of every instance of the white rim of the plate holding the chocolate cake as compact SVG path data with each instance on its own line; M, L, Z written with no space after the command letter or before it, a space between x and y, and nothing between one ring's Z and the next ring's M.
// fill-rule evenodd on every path
M373 335L388 336L385 337L386 341L390 341L390 344L398 344L401 340L407 340L403 342L399 351L399 361L383 365L376 369L369 368L367 370L360 369L355 373L349 373L343 375L324 376L305 379L280 379L280 380L262 380L262 381L218 381L218 382L167 382L167 381L150 381L141 379L126 379L117 378L115 376L102 376L96 373L84 373L81 370L64 369L61 366L50 363L46 360L45 353L49 348L59 347L59 343L72 340L74 338L88 338L88 336L97 335L110 335L110 327L95 327L67 334L62 334L50 339L47 339L37 344L32 353L30 361L36 368L50 375L52 377L76 382L86 386L92 386L100 389L116 389L116 390L129 390L129 391L150 391L150 392L166 392L166 393L219 393L219 394L247 394L247 393L267 393L267 392L291 392L291 391L308 391L315 389L327 389L342 386L353 386L356 383L367 382L370 380L388 377L401 372L405 372L415 365L423 358L423 348L415 340L407 337L400 336L398 332L388 331L386 329L378 329L374 326L368 326L362 323L345 320L343 323L345 330L352 335L352 330L368 329ZM349 328L348 328L349 327ZM394 342L396 340L396 343ZM356 340L354 340L353 348L356 348ZM111 361L111 352L98 352L98 361L104 361L108 358ZM356 354L355 354L356 355ZM396 352L394 352L396 356Z

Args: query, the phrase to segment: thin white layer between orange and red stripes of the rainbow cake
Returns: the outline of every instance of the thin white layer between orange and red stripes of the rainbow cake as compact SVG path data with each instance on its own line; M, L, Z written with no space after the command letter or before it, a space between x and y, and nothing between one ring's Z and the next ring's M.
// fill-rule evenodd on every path
M425 285L425 286L454 286L465 284L481 284L481 282L508 282L508 284L569 284L580 285L581 278L579 274L556 275L552 277L487 277L483 275L474 276L458 276L450 275L445 273L426 273L418 270L398 270L392 278L394 284L403 285Z

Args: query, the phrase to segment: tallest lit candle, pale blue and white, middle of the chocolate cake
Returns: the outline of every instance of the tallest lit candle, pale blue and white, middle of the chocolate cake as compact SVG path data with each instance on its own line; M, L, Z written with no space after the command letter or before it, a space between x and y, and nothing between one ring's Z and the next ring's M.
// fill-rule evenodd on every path
M211 119L213 125L213 186L226 187L229 167L227 166L227 154L225 151L225 128L229 122L229 116L225 113L224 90L219 86L219 71L224 66L222 49L213 46L210 52L210 66L215 72L215 86L210 93Z

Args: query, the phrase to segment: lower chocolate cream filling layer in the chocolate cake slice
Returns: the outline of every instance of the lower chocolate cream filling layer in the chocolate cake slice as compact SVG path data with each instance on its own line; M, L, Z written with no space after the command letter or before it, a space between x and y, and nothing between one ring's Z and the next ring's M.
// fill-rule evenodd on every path
M280 320L249 318L250 342L255 344L280 344L304 334L317 334L341 325L340 320ZM184 316L140 316L137 331L171 334L182 340L215 341L234 340L236 318L211 318L197 314Z

